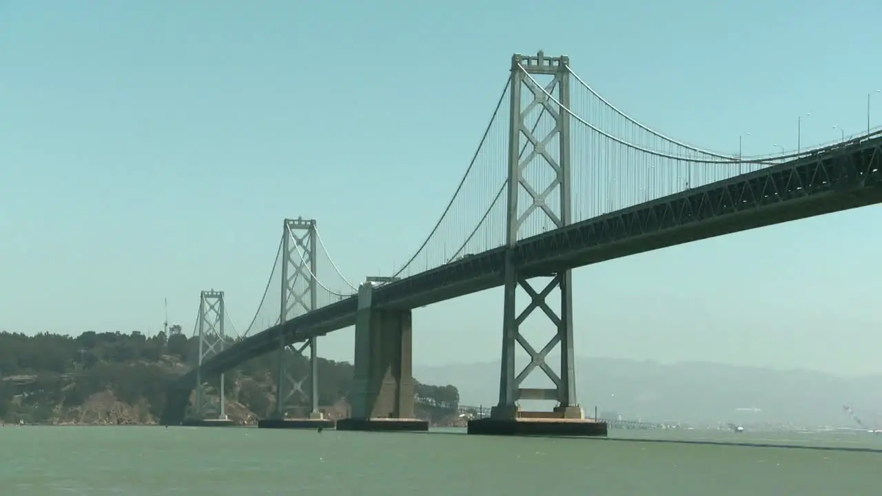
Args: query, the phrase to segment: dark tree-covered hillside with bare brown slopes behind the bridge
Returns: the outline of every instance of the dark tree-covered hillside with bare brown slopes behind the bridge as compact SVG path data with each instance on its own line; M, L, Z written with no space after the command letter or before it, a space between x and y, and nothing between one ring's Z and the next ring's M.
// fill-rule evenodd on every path
M86 332L0 333L0 419L54 424L150 424L165 404L168 385L195 363L195 339L183 334ZM266 417L274 406L278 354L271 353L226 373L227 410L236 420ZM305 358L288 353L295 377L308 371ZM318 402L346 404L353 367L320 359ZM220 387L218 380L210 387ZM419 384L418 413L437 421L459 404L456 387ZM305 408L304 397L293 400ZM340 415L338 411L337 415Z

